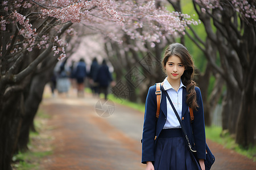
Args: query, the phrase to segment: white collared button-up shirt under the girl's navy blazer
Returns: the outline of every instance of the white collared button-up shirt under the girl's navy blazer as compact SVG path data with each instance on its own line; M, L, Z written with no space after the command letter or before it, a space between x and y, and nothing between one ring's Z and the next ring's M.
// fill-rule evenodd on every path
M182 94L183 94L183 88L185 87L184 84L180 80L180 87L179 90L175 91L174 88L172 88L171 84L168 82L167 78L163 81L163 88L167 91L168 95L170 96L170 99L172 100L172 103L174 104L174 107L179 114L181 118L181 112L182 112ZM169 102L169 100L166 97L166 103L167 103L167 119L166 124L164 124L163 129L170 129L170 128L181 128L180 122L177 119L174 110L172 109L172 106Z

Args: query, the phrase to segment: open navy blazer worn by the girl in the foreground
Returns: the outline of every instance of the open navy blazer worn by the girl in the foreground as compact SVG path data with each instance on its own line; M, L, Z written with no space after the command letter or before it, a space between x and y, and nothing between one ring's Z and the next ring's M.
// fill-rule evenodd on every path
M204 126L204 108L203 100L201 96L201 91L199 87L196 87L196 100L199 108L197 111L193 110L194 121L191 124L190 114L188 105L186 104L186 95L187 91L185 87L183 88L183 97L182 97L182 118L181 121L184 125L185 131L187 132L189 142L192 145L193 150L197 151L198 159L205 159L205 126ZM162 88L163 90L163 88ZM145 112L144 112L144 125L143 125L143 134L142 134L142 163L147 161L154 162L154 147L158 141L158 136L162 131L164 124L166 123L167 118L167 103L166 94L162 92L162 99L160 104L160 113L159 118L156 121L156 85L151 86L148 90ZM156 136L156 139L155 139Z

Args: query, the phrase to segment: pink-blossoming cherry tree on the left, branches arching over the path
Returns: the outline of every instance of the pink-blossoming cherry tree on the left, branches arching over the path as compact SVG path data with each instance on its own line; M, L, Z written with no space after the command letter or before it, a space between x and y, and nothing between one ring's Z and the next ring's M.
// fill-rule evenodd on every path
M188 15L143 0L1 1L0 23L1 169L11 169L12 156L26 146L28 140L22 137L28 136L28 130L22 128L32 124L57 58L67 56L74 23L118 43L127 35L151 45L166 36L184 34L187 24L197 24Z

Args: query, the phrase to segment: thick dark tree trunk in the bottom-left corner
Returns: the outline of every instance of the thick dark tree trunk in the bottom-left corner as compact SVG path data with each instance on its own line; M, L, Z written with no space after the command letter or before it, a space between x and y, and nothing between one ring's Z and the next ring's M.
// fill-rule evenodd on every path
M11 160L18 141L22 122L23 94L21 91L10 95L9 99L1 97L0 118L0 169L12 169Z

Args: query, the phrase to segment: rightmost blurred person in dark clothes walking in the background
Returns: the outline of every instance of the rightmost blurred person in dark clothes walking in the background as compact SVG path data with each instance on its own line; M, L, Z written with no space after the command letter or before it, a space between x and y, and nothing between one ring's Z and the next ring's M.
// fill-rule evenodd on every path
M98 69L96 82L99 84L100 93L104 93L105 100L108 97L108 87L110 82L113 81L112 75L109 72L109 67L106 65L106 60L103 59L102 65Z

